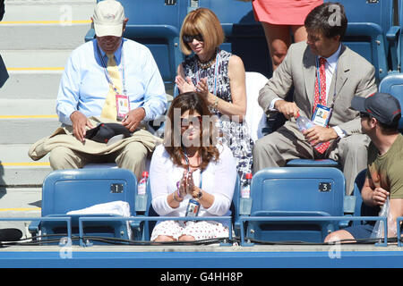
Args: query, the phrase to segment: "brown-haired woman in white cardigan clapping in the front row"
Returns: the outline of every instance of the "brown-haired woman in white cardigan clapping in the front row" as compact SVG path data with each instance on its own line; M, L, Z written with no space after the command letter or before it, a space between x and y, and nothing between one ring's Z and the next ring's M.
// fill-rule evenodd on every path
M214 119L199 93L174 98L167 113L164 145L150 164L152 206L161 216L230 215L236 184L231 150L216 144ZM193 206L198 205L197 209ZM228 222L161 221L151 241L206 240L228 237Z

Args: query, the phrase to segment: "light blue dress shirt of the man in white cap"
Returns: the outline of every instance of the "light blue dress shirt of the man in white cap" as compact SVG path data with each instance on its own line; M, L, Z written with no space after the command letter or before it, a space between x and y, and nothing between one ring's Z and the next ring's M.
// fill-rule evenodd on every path
M109 82L99 56L106 64L107 55L98 48L96 39L79 46L70 55L56 100L60 122L72 125L70 115L77 110L87 117L101 114ZM124 79L130 109L143 107L144 121L164 114L167 109L165 86L149 48L123 38L122 45L115 52L115 60Z

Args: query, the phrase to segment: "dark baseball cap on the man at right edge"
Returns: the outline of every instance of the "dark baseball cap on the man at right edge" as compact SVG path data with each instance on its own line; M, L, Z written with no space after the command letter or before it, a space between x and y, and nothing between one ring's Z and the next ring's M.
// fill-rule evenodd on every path
M375 92L369 97L353 97L351 107L356 111L370 114L386 125L392 125L395 118L401 116L399 100L383 92Z

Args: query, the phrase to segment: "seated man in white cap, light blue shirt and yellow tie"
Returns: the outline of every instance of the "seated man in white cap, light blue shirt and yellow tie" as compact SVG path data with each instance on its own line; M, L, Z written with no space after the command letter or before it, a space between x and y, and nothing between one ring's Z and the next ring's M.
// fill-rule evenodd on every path
M91 116L102 122L121 122L133 133L141 122L154 120L167 108L164 83L150 50L122 37L128 21L122 4L100 1L91 20L96 38L73 51L56 100L59 121L73 126L76 143L81 146L85 145L86 130L95 127ZM152 151L152 147L145 147L140 141L107 156L77 152L75 147L56 147L49 160L53 169L115 161L119 167L133 170L139 178L145 157Z

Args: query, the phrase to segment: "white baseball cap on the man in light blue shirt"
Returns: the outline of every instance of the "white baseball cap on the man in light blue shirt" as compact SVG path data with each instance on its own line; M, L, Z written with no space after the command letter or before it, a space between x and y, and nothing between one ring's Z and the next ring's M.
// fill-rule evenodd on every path
M100 1L92 17L95 34L98 37L122 37L124 24L124 7L115 0Z

